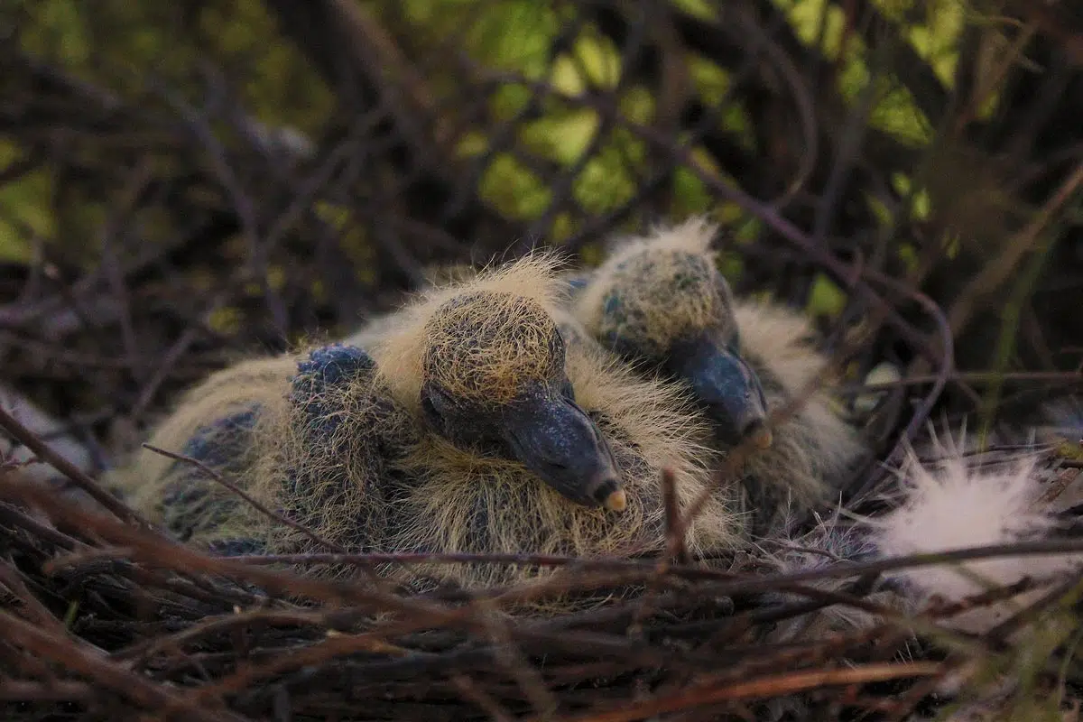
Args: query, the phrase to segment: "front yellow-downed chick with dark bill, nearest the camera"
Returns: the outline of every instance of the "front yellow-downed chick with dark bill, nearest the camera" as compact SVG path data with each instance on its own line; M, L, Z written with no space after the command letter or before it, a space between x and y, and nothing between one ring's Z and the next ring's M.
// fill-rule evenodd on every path
M373 333L365 350L328 346L300 364L247 362L211 377L152 443L205 449L205 463L349 551L661 551L661 469L674 470L679 506L687 507L710 483L705 428L678 386L637 377L595 344L565 350L558 324L572 319L559 306L559 287L552 259L534 255L430 289ZM549 409L566 423L538 429L537 415L523 418L523 409ZM550 447L535 443L565 434L578 415L589 419L582 443L602 449L598 470L580 474L597 489L554 485L573 462L550 469ZM121 481L174 534L226 549L317 550L191 467L148 455ZM615 498L606 455L618 472L621 512L595 504ZM579 502L576 494L585 495ZM730 501L726 489L712 496L688 531L691 551L734 546L740 523ZM539 573L497 565L414 572L409 580L467 587Z

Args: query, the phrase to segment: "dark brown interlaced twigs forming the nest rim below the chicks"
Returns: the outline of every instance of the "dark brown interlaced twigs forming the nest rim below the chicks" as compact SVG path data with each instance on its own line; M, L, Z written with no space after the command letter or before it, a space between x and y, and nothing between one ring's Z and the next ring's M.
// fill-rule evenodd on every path
M0 508L0 533L13 551L2 565L0 626L10 654L0 691L26 700L10 707L9 719L171 710L183 719L257 720L283 709L293 719L344 720L535 719L553 709L569 720L693 710L720 720L749 711L823 719L867 714L865 706L902 712L929 681L963 671L915 645L909 620L896 620L890 606L886 617L877 614L883 592L860 599L870 568L827 560L810 574L801 544L852 551L852 538L830 525L817 533L831 543L795 539L798 548L775 550L766 569L452 555L445 562L564 568L559 589L479 590L461 600L400 596L363 580L208 556L17 476L3 489L19 506ZM332 557L390 561L313 554L305 563ZM797 574L787 569L795 563ZM614 582L649 591L544 621L493 614L494 604ZM809 629L819 632L811 638ZM1002 684L993 688L1015 704Z

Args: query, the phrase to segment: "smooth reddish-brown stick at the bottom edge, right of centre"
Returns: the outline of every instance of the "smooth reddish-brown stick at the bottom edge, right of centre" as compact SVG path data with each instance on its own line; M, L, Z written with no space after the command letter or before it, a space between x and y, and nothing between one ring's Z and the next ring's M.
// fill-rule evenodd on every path
M777 674L725 686L693 687L621 709L564 718L561 722L631 722L654 714L678 712L691 707L720 701L778 697L828 685L866 684L913 677L930 677L940 673L940 667L939 662L880 664L851 669L822 669Z

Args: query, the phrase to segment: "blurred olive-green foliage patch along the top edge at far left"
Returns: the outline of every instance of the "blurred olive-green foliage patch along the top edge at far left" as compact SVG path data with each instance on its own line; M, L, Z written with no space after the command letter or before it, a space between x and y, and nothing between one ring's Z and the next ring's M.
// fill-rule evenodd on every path
M312 66L260 0L201 3L185 24L178 4L127 0L24 1L29 16L23 49L77 77L131 97L160 79L192 99L203 96L196 75L211 57L243 78L245 107L273 124L315 131L326 122L334 99ZM183 35L182 35L183 34ZM183 38L183 40L181 40Z

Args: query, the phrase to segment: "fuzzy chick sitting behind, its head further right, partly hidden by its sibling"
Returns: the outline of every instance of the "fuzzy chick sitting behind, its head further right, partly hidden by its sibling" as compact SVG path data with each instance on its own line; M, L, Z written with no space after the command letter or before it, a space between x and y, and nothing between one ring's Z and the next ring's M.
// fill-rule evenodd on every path
M576 318L602 345L642 372L692 388L707 416L729 431L716 437L726 451L742 435L761 434L767 413L798 398L827 358L799 313L731 297L710 250L716 229L693 219L624 240L599 268L566 281ZM687 360L697 355L707 360ZM769 448L753 452L744 469L765 522L790 504L830 501L863 451L822 388L770 432Z

